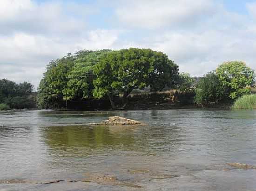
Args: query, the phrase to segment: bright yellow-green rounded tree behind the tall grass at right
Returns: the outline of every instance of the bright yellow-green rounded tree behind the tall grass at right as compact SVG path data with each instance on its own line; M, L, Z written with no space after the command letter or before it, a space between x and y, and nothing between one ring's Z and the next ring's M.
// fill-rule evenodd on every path
M248 94L254 82L254 70L239 61L221 64L216 74L223 88L229 89L228 96L231 99Z

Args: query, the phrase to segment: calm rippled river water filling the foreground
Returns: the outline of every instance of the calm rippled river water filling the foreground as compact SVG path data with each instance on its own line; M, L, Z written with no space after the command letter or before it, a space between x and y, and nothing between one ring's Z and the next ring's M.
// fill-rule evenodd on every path
M85 125L113 115L147 125ZM256 165L256 110L0 113L0 191L255 191L234 162Z

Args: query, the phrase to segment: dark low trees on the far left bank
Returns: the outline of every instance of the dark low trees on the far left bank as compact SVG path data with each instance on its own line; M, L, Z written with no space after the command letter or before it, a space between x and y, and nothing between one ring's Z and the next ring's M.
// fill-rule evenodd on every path
M36 96L33 85L28 82L15 83L7 79L0 80L0 110L35 108Z

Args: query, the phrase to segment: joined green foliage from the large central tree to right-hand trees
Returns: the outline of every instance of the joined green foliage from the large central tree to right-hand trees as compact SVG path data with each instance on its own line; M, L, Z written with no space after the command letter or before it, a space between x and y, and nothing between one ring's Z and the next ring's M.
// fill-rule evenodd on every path
M51 61L40 81L39 108L60 108L64 102L88 99L108 99L116 108L115 97L121 97L121 107L134 89L177 89L195 92L194 102L210 105L232 103L251 92L255 76L243 62L227 62L203 77L179 73L178 65L168 56L150 49L119 51L78 51Z

